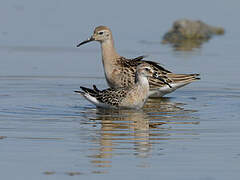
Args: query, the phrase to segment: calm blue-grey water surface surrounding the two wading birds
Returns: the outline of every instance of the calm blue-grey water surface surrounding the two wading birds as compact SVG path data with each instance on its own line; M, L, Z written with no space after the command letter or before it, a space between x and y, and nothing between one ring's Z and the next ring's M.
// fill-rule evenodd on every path
M240 4L173 2L140 3L149 13L138 15L130 3L124 16L104 1L96 7L108 11L91 13L90 2L2 3L9 21L0 30L1 179L239 178L240 26L233 19ZM160 40L179 17L224 26L226 34L174 51ZM74 46L99 24L112 27L122 55L147 54L174 72L200 73L201 81L149 99L140 111L96 109L74 90L107 87L99 45Z

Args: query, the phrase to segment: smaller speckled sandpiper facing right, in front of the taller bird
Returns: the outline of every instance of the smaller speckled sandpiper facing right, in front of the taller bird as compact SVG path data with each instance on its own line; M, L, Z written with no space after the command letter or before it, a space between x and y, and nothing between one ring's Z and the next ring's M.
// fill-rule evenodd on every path
M142 63L137 66L135 82L131 86L109 88L101 91L93 85L93 89L80 87L83 91L75 92L80 93L88 101L100 108L140 109L149 96L149 77L157 81L162 81L171 88L171 85L158 76L149 64Z

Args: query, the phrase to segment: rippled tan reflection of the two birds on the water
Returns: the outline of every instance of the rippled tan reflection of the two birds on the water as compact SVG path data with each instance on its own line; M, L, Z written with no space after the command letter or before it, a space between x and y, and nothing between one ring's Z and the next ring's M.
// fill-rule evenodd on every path
M91 138L95 145L95 148L90 149L91 162L96 167L111 167L113 156L134 154L139 158L147 158L151 156L154 144L182 139L182 135L196 135L189 132L187 127L186 132L176 127L198 124L194 115L196 110L186 110L184 105L172 102L170 98L151 98L138 111L86 111L85 124L97 127ZM178 133L180 137L176 135Z

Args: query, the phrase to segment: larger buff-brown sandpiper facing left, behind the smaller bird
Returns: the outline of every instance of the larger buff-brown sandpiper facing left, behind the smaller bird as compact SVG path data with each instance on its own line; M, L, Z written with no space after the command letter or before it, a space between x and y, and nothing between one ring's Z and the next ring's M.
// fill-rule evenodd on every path
M156 81L154 78L149 78L150 96L161 97L200 79L198 77L199 74L174 74L156 62L144 60L144 56L134 59L120 56L114 48L112 32L106 26L97 27L93 35L86 41L78 44L77 47L91 41L98 41L101 44L105 77L110 87L126 87L133 84L137 65L141 63L148 63L172 87L170 88L161 80Z

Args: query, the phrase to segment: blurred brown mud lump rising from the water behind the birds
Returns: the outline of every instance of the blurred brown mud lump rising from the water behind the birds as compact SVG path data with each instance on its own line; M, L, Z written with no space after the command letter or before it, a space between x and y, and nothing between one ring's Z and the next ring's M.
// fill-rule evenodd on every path
M188 45L189 41L192 41L192 44L198 47L213 35L220 34L224 34L224 29L221 27L210 26L202 21L180 19L175 21L173 27L163 36L162 43L171 43L179 47L186 44L186 41Z

